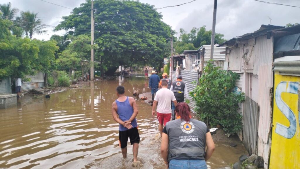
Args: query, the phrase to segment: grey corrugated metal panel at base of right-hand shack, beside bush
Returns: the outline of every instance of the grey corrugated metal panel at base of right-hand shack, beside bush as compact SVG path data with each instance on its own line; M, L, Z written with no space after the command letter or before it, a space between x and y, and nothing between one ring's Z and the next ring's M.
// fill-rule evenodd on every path
M257 154L259 106L245 96L243 111L243 143L250 154Z

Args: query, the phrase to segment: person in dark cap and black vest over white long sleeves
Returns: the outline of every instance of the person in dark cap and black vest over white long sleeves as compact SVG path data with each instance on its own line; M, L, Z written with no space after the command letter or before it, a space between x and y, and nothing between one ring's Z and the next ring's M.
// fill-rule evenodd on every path
M182 81L182 75L178 75L177 80L174 81L170 88L174 92L177 103L184 102L184 96L188 96L187 85ZM172 120L175 119L175 106L172 106Z

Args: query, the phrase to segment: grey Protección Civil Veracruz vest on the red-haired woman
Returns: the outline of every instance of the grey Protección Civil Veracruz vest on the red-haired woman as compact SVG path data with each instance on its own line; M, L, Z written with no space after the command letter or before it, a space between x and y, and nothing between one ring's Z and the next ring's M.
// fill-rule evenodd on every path
M202 121L182 119L169 121L166 124L169 138L168 161L205 160L207 126Z

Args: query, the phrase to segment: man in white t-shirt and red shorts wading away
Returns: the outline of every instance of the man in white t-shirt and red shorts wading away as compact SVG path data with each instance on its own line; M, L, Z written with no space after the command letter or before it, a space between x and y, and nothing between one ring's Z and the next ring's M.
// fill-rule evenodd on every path
M177 105L176 98L174 96L173 91L168 89L168 82L166 80L161 81L161 89L156 92L153 106L152 106L152 115L155 115L155 108L156 103L158 102L157 106L157 119L159 122L158 130L162 134L163 132L163 125L166 126L166 123L171 120L171 101Z

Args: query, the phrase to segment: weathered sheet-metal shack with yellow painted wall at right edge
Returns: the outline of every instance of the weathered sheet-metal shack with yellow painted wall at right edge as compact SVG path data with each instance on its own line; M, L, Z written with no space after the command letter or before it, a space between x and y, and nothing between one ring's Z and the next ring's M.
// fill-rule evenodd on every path
M296 119L300 121L297 117L300 110L297 97L300 93L299 33L300 25L288 28L262 25L253 33L221 45L226 46L224 69L240 75L236 90L246 96L240 106L243 130L239 137L250 153L263 157L265 168L299 167L300 149L296 145L300 145L300 128L294 126L297 126ZM280 96L281 92L295 95ZM294 140L287 139L291 137L289 130L294 133ZM279 164L279 161L283 162Z

